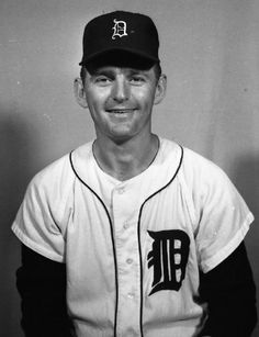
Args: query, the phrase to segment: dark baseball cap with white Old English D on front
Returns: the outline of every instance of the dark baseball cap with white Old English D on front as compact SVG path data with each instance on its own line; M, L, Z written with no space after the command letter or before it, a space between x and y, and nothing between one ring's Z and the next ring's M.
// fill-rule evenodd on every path
M153 20L140 13L115 11L92 19L85 27L82 60L89 61L111 52L126 52L159 61L159 38Z

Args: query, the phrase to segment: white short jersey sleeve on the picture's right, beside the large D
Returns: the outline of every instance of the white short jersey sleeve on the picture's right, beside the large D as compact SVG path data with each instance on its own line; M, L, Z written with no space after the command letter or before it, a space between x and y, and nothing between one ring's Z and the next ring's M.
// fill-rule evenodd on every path
M254 215L226 173L213 164L202 172L200 192L196 248L201 269L207 272L238 247Z

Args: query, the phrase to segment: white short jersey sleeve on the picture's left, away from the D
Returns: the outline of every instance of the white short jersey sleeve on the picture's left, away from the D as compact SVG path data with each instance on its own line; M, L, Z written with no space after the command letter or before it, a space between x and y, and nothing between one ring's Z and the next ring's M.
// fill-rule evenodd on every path
M55 221L55 210L47 189L41 184L37 176L27 187L12 231L29 248L52 260L64 261L64 236Z

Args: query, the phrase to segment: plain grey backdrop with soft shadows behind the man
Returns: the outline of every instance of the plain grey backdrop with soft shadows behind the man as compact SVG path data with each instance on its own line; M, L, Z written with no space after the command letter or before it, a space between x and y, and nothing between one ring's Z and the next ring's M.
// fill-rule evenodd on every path
M258 0L1 0L1 337L22 336L11 223L32 177L94 136L72 80L85 23L117 9L147 13L159 30L168 91L154 131L221 166L259 218ZM258 239L256 220L246 243L257 285Z

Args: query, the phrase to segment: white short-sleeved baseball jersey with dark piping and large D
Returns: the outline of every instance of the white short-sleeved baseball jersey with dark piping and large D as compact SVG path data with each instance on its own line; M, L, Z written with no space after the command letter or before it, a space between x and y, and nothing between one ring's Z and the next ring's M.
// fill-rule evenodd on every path
M12 229L67 265L77 336L196 336L206 316L199 270L229 256L254 220L213 162L159 138L151 165L119 181L92 142L37 173Z

